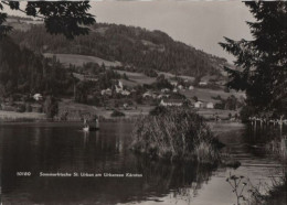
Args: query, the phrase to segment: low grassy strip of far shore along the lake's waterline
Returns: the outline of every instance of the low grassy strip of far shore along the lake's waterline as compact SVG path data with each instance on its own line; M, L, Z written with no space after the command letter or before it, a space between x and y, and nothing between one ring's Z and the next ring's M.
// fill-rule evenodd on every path
M155 106L140 105L125 109L123 107L114 108L124 112L123 117L111 117L114 109L106 109L105 107L95 107L91 105L83 105L73 102L70 99L62 99L59 104L59 114L54 117L54 121L82 121L83 116L97 116L102 121L119 121L119 120L135 120L140 115L149 115ZM215 121L217 116L220 121L228 122L228 115L235 115L234 110L219 110L219 109L198 109L194 110L208 121ZM65 118L63 119L63 116ZM0 121L51 121L43 112L17 112L0 110ZM234 121L233 121L234 122Z

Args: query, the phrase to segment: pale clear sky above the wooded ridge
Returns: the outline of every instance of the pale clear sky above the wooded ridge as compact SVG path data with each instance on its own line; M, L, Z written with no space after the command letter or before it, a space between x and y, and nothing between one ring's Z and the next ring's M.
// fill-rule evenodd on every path
M240 1L108 0L91 4L89 12L96 15L97 22L161 30L176 41L225 57L228 62L234 57L219 45L224 41L223 36L252 39L245 22L254 19Z

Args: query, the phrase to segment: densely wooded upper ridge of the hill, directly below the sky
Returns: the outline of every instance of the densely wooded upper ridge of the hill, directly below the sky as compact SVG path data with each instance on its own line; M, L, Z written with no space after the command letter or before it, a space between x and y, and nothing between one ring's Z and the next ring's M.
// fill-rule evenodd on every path
M89 35L68 41L50 35L43 25L28 31L15 30L11 36L32 51L57 54L82 54L121 62L126 68L142 72L152 68L180 75L221 76L226 60L172 40L161 31L97 23Z

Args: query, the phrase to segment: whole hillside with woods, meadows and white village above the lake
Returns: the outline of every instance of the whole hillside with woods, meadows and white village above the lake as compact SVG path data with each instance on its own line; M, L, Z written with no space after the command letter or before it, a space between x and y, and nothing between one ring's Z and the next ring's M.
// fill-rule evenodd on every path
M19 22L17 20L13 23ZM67 107L72 110L71 112L81 114L81 110L94 109L93 106L96 106L98 107L97 114L105 117L110 116L110 109L123 109L126 114L132 112L132 115L138 115L141 110L148 114L163 98L189 99L191 104L195 100L201 100L206 105L214 102L214 106L216 105L219 109L226 109L226 114L234 109L234 105L242 105L244 94L234 93L234 90L226 93L223 90L222 84L219 84L220 82L224 83L224 76L219 71L225 64L224 60L196 51L183 43L174 42L161 32L159 32L160 35L166 36L166 40L164 37L156 37L158 42L155 42L156 40L148 39L155 32L138 29L139 34L137 35L140 35L140 37L132 41L139 42L124 46L121 40L114 42L95 40L97 35L106 37L106 32L118 25L99 26L94 29L88 36L66 41L63 36L46 34L42 25L25 24L23 21L20 21L20 24L21 30L15 29L11 36L0 44L0 109L4 111L30 108L33 94L57 97L61 101L59 114L61 119L65 116ZM136 29L124 28L127 30ZM140 32L146 32L147 36L140 34ZM113 36L109 37L113 39ZM121 37L125 39L126 36L123 35ZM95 41L92 41L93 39ZM93 44L93 46L88 47L87 43ZM121 60L116 58L114 53L104 55L100 53L100 46L94 47L94 44L100 43L107 46L107 51L103 50L103 53L118 46L125 48L127 56L134 56L134 58L128 60L126 55L123 55ZM138 51L134 55L128 53L131 52L132 46L138 46ZM76 48L79 48L78 53ZM157 62L139 61L140 57L148 55L142 54L145 48L152 50L155 60L160 60L162 56L169 58L162 64L163 67L167 66L167 71L157 67L159 66ZM83 53L83 51L86 53ZM89 52L99 53L91 54ZM146 51L146 53L149 52ZM182 53L178 55L177 52ZM195 66L190 66L189 69L182 69L182 67L178 69L177 66L169 69L169 66L173 64L188 66L188 63L192 62L190 61L191 57L194 57L193 54L196 56L193 58L194 62L203 62L203 64L194 64ZM200 57L202 61L199 61ZM155 63L155 67L142 67L142 65L150 63ZM196 73L199 68L196 66L202 68L199 69L199 73ZM147 71L145 71L146 68ZM152 69L157 69L156 74L158 75L155 76ZM200 83L209 83L194 85L193 83L199 80L199 76ZM194 87L190 85L194 85ZM163 89L164 91L162 91ZM64 99L68 101L70 106L63 102ZM92 107L88 107L88 105ZM129 107L125 108L127 105ZM200 109L200 111L204 109ZM216 112L214 109L212 115ZM206 114L204 112L204 115ZM211 111L208 115L211 115ZM26 118L26 116L24 117ZM33 115L30 117L33 117ZM41 116L34 117L40 118Z

